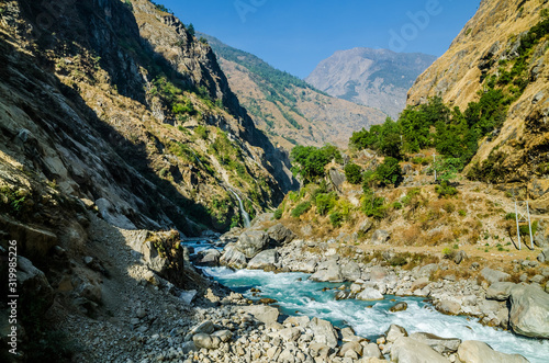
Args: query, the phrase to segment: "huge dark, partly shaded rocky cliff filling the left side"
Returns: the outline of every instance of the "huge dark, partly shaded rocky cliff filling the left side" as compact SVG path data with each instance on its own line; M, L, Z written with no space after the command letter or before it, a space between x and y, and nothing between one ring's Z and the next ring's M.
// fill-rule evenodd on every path
M254 214L293 186L210 46L149 1L8 1L0 16L7 219L55 232L65 201L194 235L238 223L231 190Z

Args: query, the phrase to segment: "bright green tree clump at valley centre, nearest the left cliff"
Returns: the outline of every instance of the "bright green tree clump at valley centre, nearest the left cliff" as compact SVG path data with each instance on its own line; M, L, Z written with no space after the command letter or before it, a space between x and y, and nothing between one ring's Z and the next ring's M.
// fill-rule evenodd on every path
M290 157L293 161L292 172L303 178L304 182L316 181L325 175L324 167L333 159L341 162L341 154L332 145L322 148L314 146L295 146Z

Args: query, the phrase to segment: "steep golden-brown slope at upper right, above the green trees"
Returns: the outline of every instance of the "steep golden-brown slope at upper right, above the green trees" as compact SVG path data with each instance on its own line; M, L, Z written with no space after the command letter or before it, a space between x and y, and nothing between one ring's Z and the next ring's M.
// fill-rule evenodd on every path
M547 178L548 8L547 1L483 0L448 52L408 92L411 105L439 95L461 111L485 94L501 95L490 104L503 116L469 167L474 178Z

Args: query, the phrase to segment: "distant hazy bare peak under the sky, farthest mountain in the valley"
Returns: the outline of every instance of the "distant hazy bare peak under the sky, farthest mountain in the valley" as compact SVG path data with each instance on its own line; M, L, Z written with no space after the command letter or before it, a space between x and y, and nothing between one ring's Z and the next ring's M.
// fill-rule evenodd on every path
M321 61L305 81L333 97L379 109L397 118L406 105L407 90L435 59L388 49L339 50Z

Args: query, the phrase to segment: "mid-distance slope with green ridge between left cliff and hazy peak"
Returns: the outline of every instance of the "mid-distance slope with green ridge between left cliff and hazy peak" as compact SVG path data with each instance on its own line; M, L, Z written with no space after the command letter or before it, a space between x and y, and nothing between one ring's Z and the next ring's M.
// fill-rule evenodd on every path
M345 148L352 132L385 118L378 110L332 98L249 53L200 35L214 49L231 89L257 127L277 145L290 149L332 143Z

